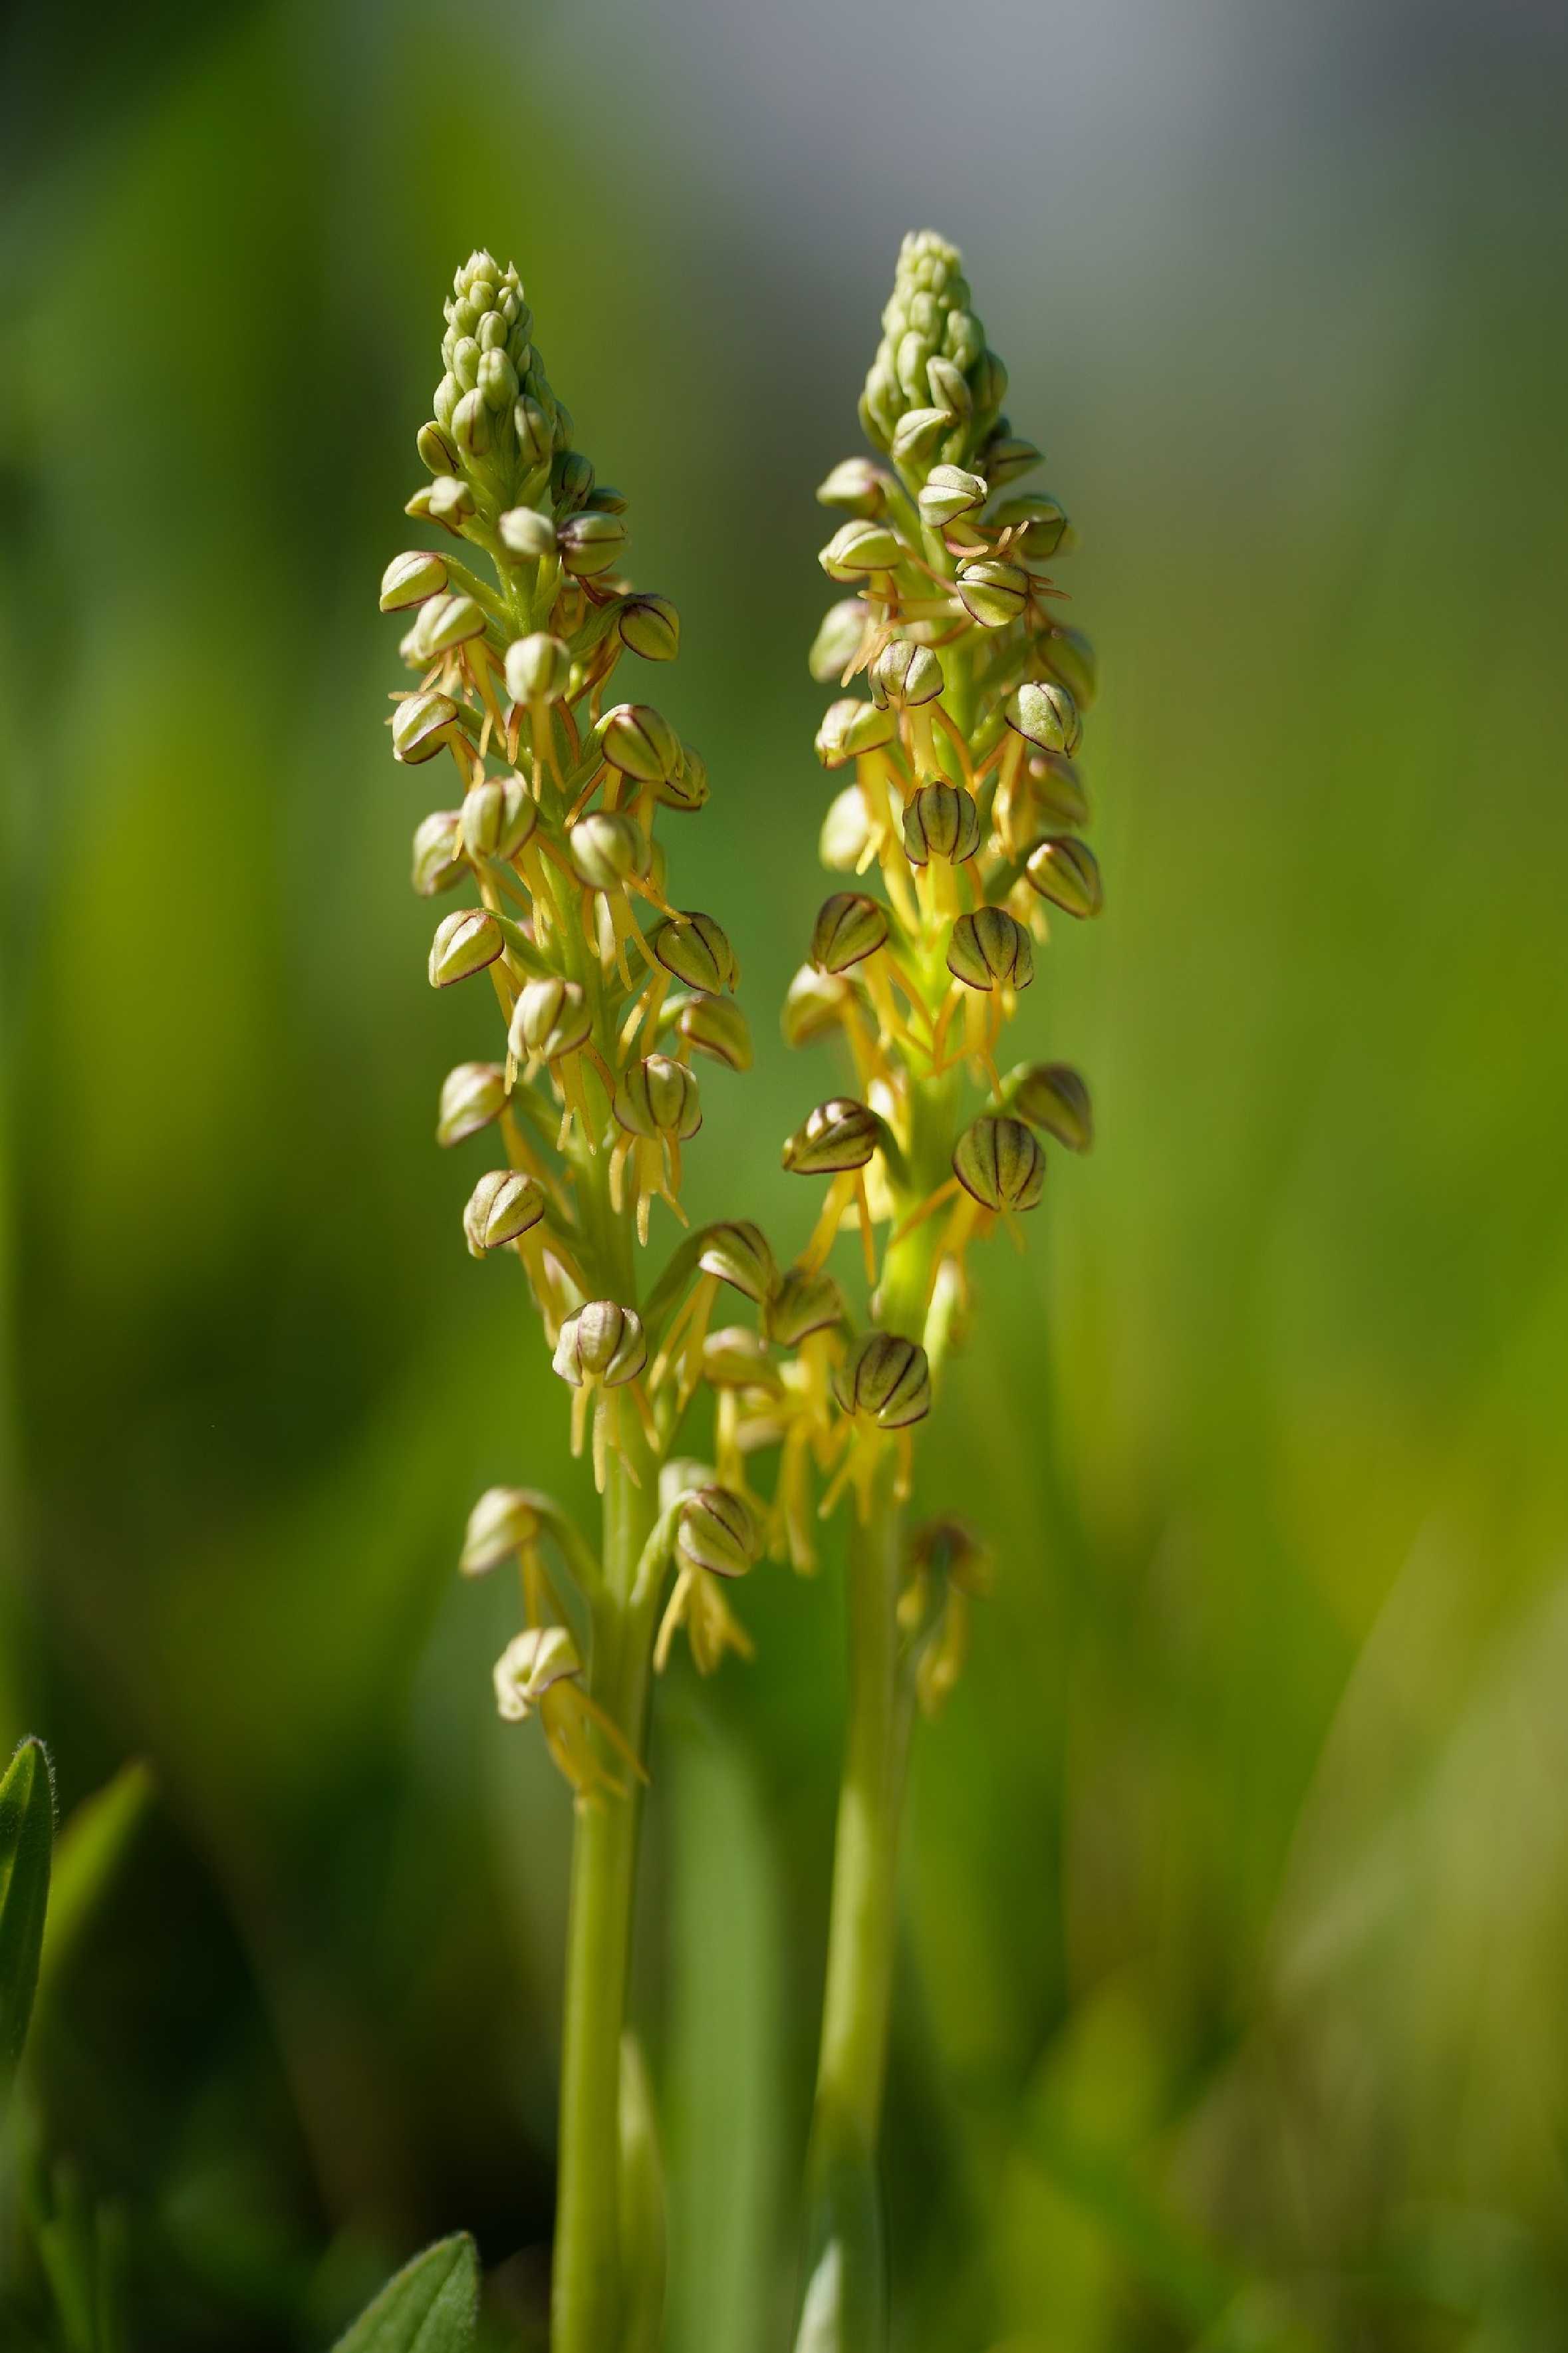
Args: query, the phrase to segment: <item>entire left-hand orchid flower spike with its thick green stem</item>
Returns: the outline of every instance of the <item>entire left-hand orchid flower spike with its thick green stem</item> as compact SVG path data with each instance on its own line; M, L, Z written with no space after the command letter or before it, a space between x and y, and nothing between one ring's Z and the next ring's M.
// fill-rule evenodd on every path
M466 1574L518 1574L494 1697L506 1722L537 1720L574 1800L551 2344L652 2353L662 2191L626 2035L650 1687L678 1631L704 1673L749 1649L725 1598L760 1551L732 1438L742 1344L756 1381L782 1384L763 1329L727 1348L709 1334L725 1289L765 1322L772 1249L756 1226L685 1231L680 1176L695 1061L744 1071L751 1040L735 951L713 915L671 904L657 831L702 809L706 767L652 704L612 696L622 656L676 656L676 609L622 576L626 501L574 447L518 273L485 252L445 306L419 454L431 480L407 513L447 544L381 581L414 673L393 755L457 784L414 833L414 889L464 894L431 986L494 1000L490 1059L447 1073L436 1134L490 1148L464 1238L518 1261L600 1494L586 1532L537 1489L492 1487L461 1553ZM676 1247L645 1280L664 1221ZM732 1487L676 1454L699 1395Z

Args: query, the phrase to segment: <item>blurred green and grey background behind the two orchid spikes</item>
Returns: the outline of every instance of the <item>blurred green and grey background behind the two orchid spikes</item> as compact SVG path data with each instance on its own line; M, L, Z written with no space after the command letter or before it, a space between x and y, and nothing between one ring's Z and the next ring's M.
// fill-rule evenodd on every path
M899 2353L1568 2346L1568 242L1509 5L386 0L16 19L0 172L0 1737L158 1784L40 2021L134 2346L315 2353L471 2226L537 2344L567 1805L457 1591L582 1494L424 981L381 565L471 245L633 494L763 1040L822 896L812 487L906 226L1078 518L1092 1078L921 1499L1001 1579L921 1737ZM483 1028L483 1024L480 1024ZM826 1066L704 1087L803 1240ZM478 1151L476 1146L471 1151ZM454 1165L459 1162L461 1165ZM815 1195L815 1188L812 1188ZM836 1562L659 1701L673 2353L782 2346Z

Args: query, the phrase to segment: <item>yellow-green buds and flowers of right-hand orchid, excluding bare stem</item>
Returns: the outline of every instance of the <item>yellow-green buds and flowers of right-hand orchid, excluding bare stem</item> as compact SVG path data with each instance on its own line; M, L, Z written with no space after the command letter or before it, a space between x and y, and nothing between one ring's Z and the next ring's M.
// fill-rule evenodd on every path
M826 1327L817 1377L786 1381L770 1407L786 1459L775 1525L800 1565L796 1473L817 1461L826 1504L848 1478L866 1508L866 1440L892 1433L906 1489L909 1426L968 1304L970 1240L1038 1205L1045 1139L1092 1144L1078 1071L998 1066L1048 915L1102 904L1074 765L1095 654L1052 579L1074 527L1057 499L1010 487L1041 452L1001 414L1005 386L961 256L932 233L906 238L859 402L883 461L848 459L817 492L845 515L822 551L845 595L810 668L869 692L843 692L817 732L824 767L848 776L822 828L822 861L845 882L817 915L784 1031L793 1045L841 1038L855 1094L822 1101L784 1146L786 1167L829 1179L791 1280L819 1282L855 1226L871 1329L845 1341ZM913 1539L902 1614L925 1635L928 1704L956 1673L982 1588L968 1532L939 1522Z

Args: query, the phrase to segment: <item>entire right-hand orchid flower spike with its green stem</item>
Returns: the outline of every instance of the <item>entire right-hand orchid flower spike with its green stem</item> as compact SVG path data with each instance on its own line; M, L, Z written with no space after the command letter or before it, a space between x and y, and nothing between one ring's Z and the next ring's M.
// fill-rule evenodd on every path
M998 1061L1050 913L1102 904L1071 758L1095 656L1052 576L1074 534L1055 499L1003 494L1041 456L1001 414L1005 381L961 256L906 238L859 405L881 461L848 459L819 489L848 511L822 567L850 593L817 633L812 675L869 687L841 694L817 734L824 767L850 776L822 833L845 887L784 1007L791 1042L843 1042L857 1087L784 1148L786 1167L831 1176L805 1257L824 1266L855 1226L869 1282L869 1329L836 1365L810 1447L831 1471L819 1508L855 1499L798 2334L836 2353L873 2353L888 2327L876 2141L909 1727L951 1689L989 1579L963 1522L906 1527L909 1431L968 1322L970 1242L996 1226L1019 1240L1043 1195L1043 1136L1092 1141L1071 1066L1003 1075ZM798 1497L784 1525L810 1565Z

